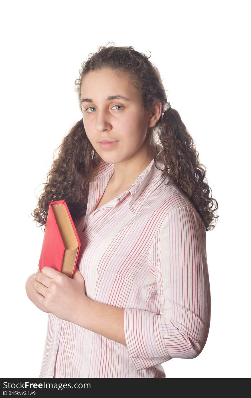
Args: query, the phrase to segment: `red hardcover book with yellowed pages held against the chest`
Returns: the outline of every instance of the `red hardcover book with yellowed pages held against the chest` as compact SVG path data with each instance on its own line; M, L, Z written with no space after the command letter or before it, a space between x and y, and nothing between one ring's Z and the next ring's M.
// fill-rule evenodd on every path
M66 201L51 202L39 259L40 271L45 266L52 267L72 278L79 251L80 239Z

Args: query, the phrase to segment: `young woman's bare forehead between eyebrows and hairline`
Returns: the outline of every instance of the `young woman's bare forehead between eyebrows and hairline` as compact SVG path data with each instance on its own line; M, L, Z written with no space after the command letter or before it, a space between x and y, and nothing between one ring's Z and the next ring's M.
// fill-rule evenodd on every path
M109 68L91 70L83 78L81 98L104 99L119 93L121 96L139 98L137 88L131 83L128 74Z

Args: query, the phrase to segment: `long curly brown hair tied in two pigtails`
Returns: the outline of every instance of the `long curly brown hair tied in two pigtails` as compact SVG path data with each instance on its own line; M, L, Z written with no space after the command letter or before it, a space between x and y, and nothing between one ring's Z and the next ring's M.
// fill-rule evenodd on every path
M142 105L146 111L149 111L156 99L163 106L167 101L165 89L158 68L149 60L150 56L135 51L132 46L115 47L108 46L109 43L99 46L99 50L81 64L80 77L75 80L81 113L82 80L90 70L104 67L123 71L130 77L132 84L141 93ZM205 178L206 168L199 162L194 141L179 113L173 108L167 109L151 134L150 146L157 148L158 140L158 147L162 148L165 164L163 173L169 173L173 182L189 197L204 222L206 231L212 230L212 220L219 217L214 214L218 203L209 196L211 189ZM45 226L49 203L56 200L66 200L74 222L85 215L89 181L102 160L86 135L83 118L73 125L58 148L58 157L54 159L53 155L53 165L47 174L47 182L37 208L31 213L40 226ZM214 201L215 209L212 208Z

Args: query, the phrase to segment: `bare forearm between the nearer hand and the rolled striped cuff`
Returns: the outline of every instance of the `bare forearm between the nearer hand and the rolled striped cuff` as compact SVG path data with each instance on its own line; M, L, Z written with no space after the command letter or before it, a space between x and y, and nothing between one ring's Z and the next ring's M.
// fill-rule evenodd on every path
M86 298L73 322L82 328L126 345L124 309Z

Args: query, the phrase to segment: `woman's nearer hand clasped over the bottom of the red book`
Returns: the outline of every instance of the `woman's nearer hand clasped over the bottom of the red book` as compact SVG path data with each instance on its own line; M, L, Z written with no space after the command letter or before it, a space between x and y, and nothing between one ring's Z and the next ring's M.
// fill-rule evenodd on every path
M31 280L34 295L47 312L58 318L71 321L80 306L89 300L85 293L85 281L76 265L74 277L70 278L51 267L43 267Z

